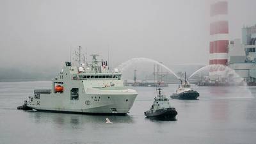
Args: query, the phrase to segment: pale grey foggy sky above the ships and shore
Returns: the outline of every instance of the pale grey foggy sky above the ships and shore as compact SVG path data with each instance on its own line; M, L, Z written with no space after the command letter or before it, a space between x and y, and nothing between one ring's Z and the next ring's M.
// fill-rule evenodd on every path
M256 24L255 6L229 2L231 40ZM209 61L207 0L0 0L0 20L0 68L60 67L77 45L105 59L110 49L113 67L134 57Z

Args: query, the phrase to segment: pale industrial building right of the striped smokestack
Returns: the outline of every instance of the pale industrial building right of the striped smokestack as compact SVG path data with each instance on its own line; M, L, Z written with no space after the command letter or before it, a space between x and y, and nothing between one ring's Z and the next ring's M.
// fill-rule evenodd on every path
M256 25L242 28L242 40L228 45L228 67L234 69L248 85L256 84Z

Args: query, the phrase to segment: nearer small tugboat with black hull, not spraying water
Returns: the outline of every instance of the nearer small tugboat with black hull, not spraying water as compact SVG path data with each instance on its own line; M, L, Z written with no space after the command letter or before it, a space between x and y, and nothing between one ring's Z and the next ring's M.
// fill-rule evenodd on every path
M155 97L154 103L144 115L148 118L156 118L162 120L176 120L175 116L178 114L175 108L172 108L169 100L161 93L161 88L157 88L159 94Z

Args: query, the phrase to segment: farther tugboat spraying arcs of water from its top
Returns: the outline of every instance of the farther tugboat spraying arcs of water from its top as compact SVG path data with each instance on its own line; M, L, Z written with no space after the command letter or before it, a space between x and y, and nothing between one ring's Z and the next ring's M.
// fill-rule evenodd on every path
M172 99L184 99L184 100L196 100L199 97L199 93L195 90L192 90L185 72L185 81L183 82L180 79L181 84L176 90L176 93L173 93L170 97Z

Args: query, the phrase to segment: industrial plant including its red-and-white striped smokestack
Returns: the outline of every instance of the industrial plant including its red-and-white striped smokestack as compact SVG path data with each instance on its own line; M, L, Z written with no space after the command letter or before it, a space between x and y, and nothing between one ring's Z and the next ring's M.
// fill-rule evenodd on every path
M242 28L242 40L229 40L228 0L212 0L210 17L209 65L212 67L209 77L201 82L203 85L226 85L241 79L248 85L255 85L256 25Z

